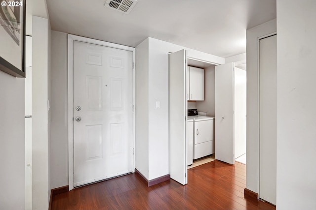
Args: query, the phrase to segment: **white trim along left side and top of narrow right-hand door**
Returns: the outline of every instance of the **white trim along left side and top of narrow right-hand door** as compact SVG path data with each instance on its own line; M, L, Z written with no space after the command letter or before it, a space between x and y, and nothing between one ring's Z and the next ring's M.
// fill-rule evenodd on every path
M260 198L260 39L267 38L269 36L276 35L276 32L272 32L260 37L257 37L257 189L258 189L258 198Z

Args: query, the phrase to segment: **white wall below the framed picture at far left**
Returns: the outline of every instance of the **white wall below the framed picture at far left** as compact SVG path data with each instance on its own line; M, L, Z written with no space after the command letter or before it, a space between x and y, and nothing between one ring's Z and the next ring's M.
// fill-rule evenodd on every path
M0 209L24 210L24 79L0 71Z

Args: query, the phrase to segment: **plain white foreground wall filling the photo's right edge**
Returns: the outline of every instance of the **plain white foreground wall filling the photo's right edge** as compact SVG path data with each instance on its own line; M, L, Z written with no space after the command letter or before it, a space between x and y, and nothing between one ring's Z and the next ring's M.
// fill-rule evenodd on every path
M312 210L316 208L316 1L276 0L276 14L276 207Z

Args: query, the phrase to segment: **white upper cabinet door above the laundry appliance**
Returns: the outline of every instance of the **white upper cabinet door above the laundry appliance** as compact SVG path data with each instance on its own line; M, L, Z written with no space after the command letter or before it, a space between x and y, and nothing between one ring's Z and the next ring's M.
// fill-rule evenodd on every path
M204 100L204 69L192 67L189 69L190 74L190 100L203 101Z

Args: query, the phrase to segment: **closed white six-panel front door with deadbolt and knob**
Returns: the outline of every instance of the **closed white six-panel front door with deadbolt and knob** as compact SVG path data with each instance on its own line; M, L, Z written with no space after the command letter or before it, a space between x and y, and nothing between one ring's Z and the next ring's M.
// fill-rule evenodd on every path
M74 41L74 186L133 171L133 55Z

